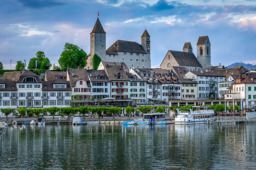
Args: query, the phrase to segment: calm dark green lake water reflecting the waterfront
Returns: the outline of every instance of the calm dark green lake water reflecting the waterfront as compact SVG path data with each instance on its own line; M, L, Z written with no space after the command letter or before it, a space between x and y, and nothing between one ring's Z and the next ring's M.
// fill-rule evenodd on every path
M256 169L256 124L7 128L0 169Z

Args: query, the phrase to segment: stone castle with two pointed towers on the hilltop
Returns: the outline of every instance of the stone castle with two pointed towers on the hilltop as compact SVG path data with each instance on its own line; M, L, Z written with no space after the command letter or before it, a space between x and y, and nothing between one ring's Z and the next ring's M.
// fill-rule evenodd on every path
M133 41L116 40L106 50L106 32L97 18L90 33L90 54L87 68L93 69L93 55L97 54L102 61L125 62L128 68L151 68L150 36L145 29L141 36L141 44Z

